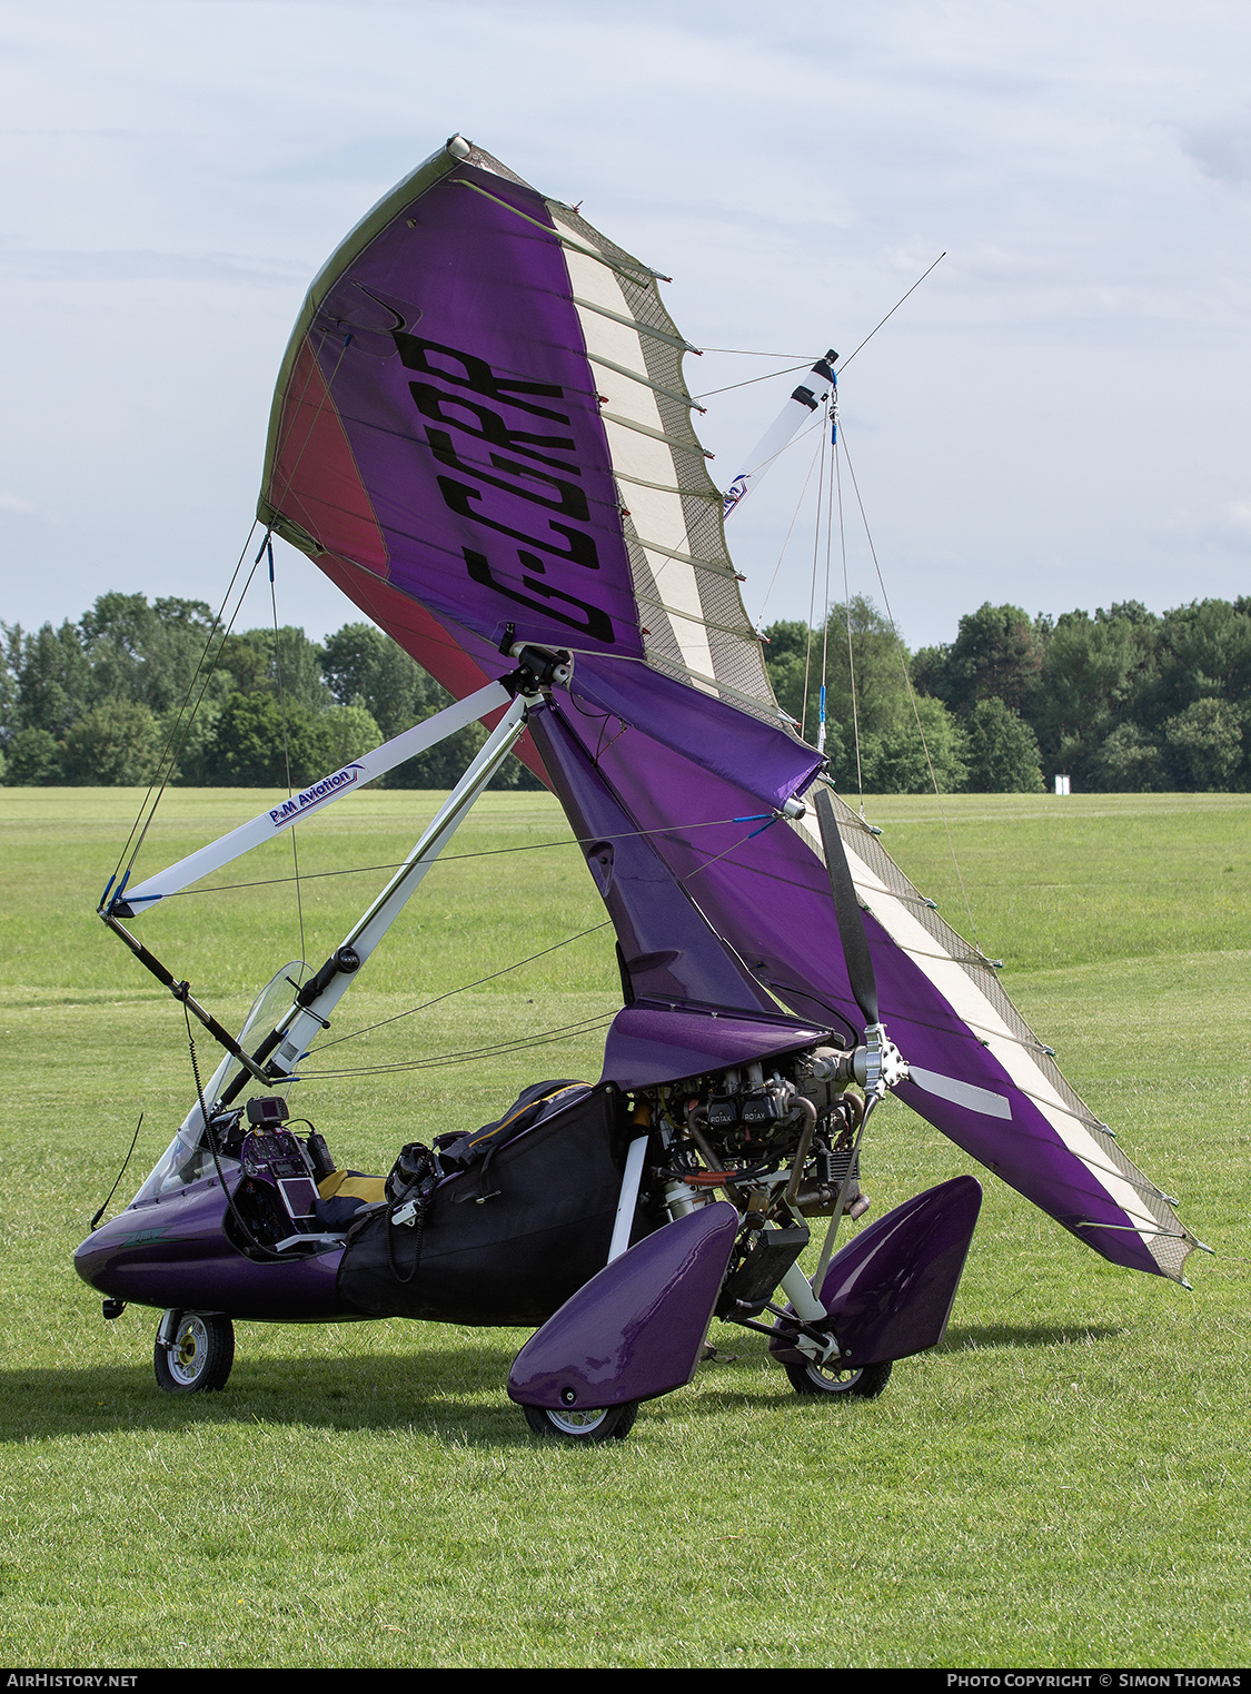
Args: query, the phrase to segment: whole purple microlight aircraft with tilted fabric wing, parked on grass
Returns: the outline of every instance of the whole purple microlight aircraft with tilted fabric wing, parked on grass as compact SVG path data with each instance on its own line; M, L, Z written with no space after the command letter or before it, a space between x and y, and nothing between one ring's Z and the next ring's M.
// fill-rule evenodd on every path
M728 491L657 271L454 136L313 281L274 396L259 520L454 696L447 710L100 915L220 1042L168 1152L81 1243L105 1315L163 1313L156 1377L223 1387L232 1320L406 1316L535 1333L508 1394L569 1442L687 1384L711 1320L799 1394L872 1398L941 1340L972 1176L836 1248L887 1093L1117 1265L1197 1245L970 947L833 791L774 700L725 527L836 383L813 363ZM481 720L489 735L320 969L237 1037L139 938L171 894ZM557 794L616 930L596 1082L347 1174L288 1094L330 1013L503 759ZM887 1033L889 1032L889 1033ZM828 1220L813 1274L809 1225Z

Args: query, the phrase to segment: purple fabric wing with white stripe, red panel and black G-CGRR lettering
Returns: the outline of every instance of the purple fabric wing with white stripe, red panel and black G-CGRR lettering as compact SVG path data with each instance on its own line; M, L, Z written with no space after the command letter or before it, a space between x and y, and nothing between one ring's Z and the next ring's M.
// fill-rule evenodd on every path
M567 710L537 715L543 759L523 752L640 996L748 1020L780 1001L801 1033L857 1038L814 818L775 811L821 759L772 698L684 347L655 273L454 137L315 280L259 512L455 695L511 669L510 635L576 654ZM901 1096L1104 1257L1180 1277L1193 1238L1160 1189L846 808L840 830L916 1071Z

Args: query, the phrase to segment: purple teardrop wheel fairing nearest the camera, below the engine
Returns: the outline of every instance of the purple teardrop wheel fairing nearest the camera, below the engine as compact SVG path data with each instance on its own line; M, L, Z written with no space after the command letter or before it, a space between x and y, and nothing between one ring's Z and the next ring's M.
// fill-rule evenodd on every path
M738 1213L723 1199L604 1265L513 1360L510 1398L550 1411L655 1399L694 1376Z

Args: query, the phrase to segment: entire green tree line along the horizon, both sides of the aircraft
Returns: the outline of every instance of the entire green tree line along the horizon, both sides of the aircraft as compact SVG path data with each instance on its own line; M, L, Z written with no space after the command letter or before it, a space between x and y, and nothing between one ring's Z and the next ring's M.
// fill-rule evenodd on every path
M0 625L10 786L173 781L274 788L347 764L449 695L372 623L220 634L198 600L102 595L76 623ZM780 706L843 791L1251 789L1251 598L1028 617L989 601L953 642L909 652L867 598L824 625L763 632ZM201 703L190 728L181 713ZM408 761L391 788L449 788L481 725ZM533 788L510 757L494 788Z

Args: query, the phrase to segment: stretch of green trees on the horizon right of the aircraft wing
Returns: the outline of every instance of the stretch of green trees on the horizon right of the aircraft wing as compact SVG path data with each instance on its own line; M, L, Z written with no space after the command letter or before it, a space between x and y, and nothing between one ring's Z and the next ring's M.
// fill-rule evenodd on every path
M774 623L765 664L843 791L1251 789L1251 598L1136 600L1031 618L990 601L909 654L857 598L824 627ZM851 686L855 678L855 689Z

